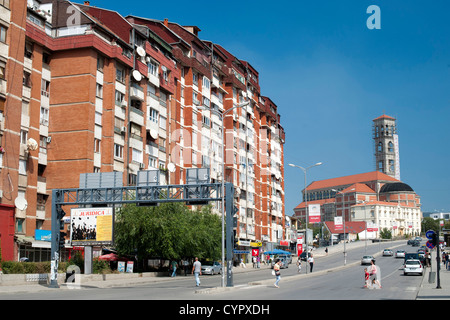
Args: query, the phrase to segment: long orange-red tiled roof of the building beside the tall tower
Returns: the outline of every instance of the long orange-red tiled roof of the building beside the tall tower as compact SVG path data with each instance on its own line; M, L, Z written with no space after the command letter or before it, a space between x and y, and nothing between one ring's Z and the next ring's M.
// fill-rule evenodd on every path
M354 174L351 176L314 181L308 186L308 190L311 191L311 190L315 190L315 189L326 189L326 188L332 188L332 187L336 187L336 186L352 185L355 183L363 183L363 182L376 181L376 180L400 182L399 180L397 180L391 176L388 176L387 174L384 174L380 171L372 171L372 172Z

